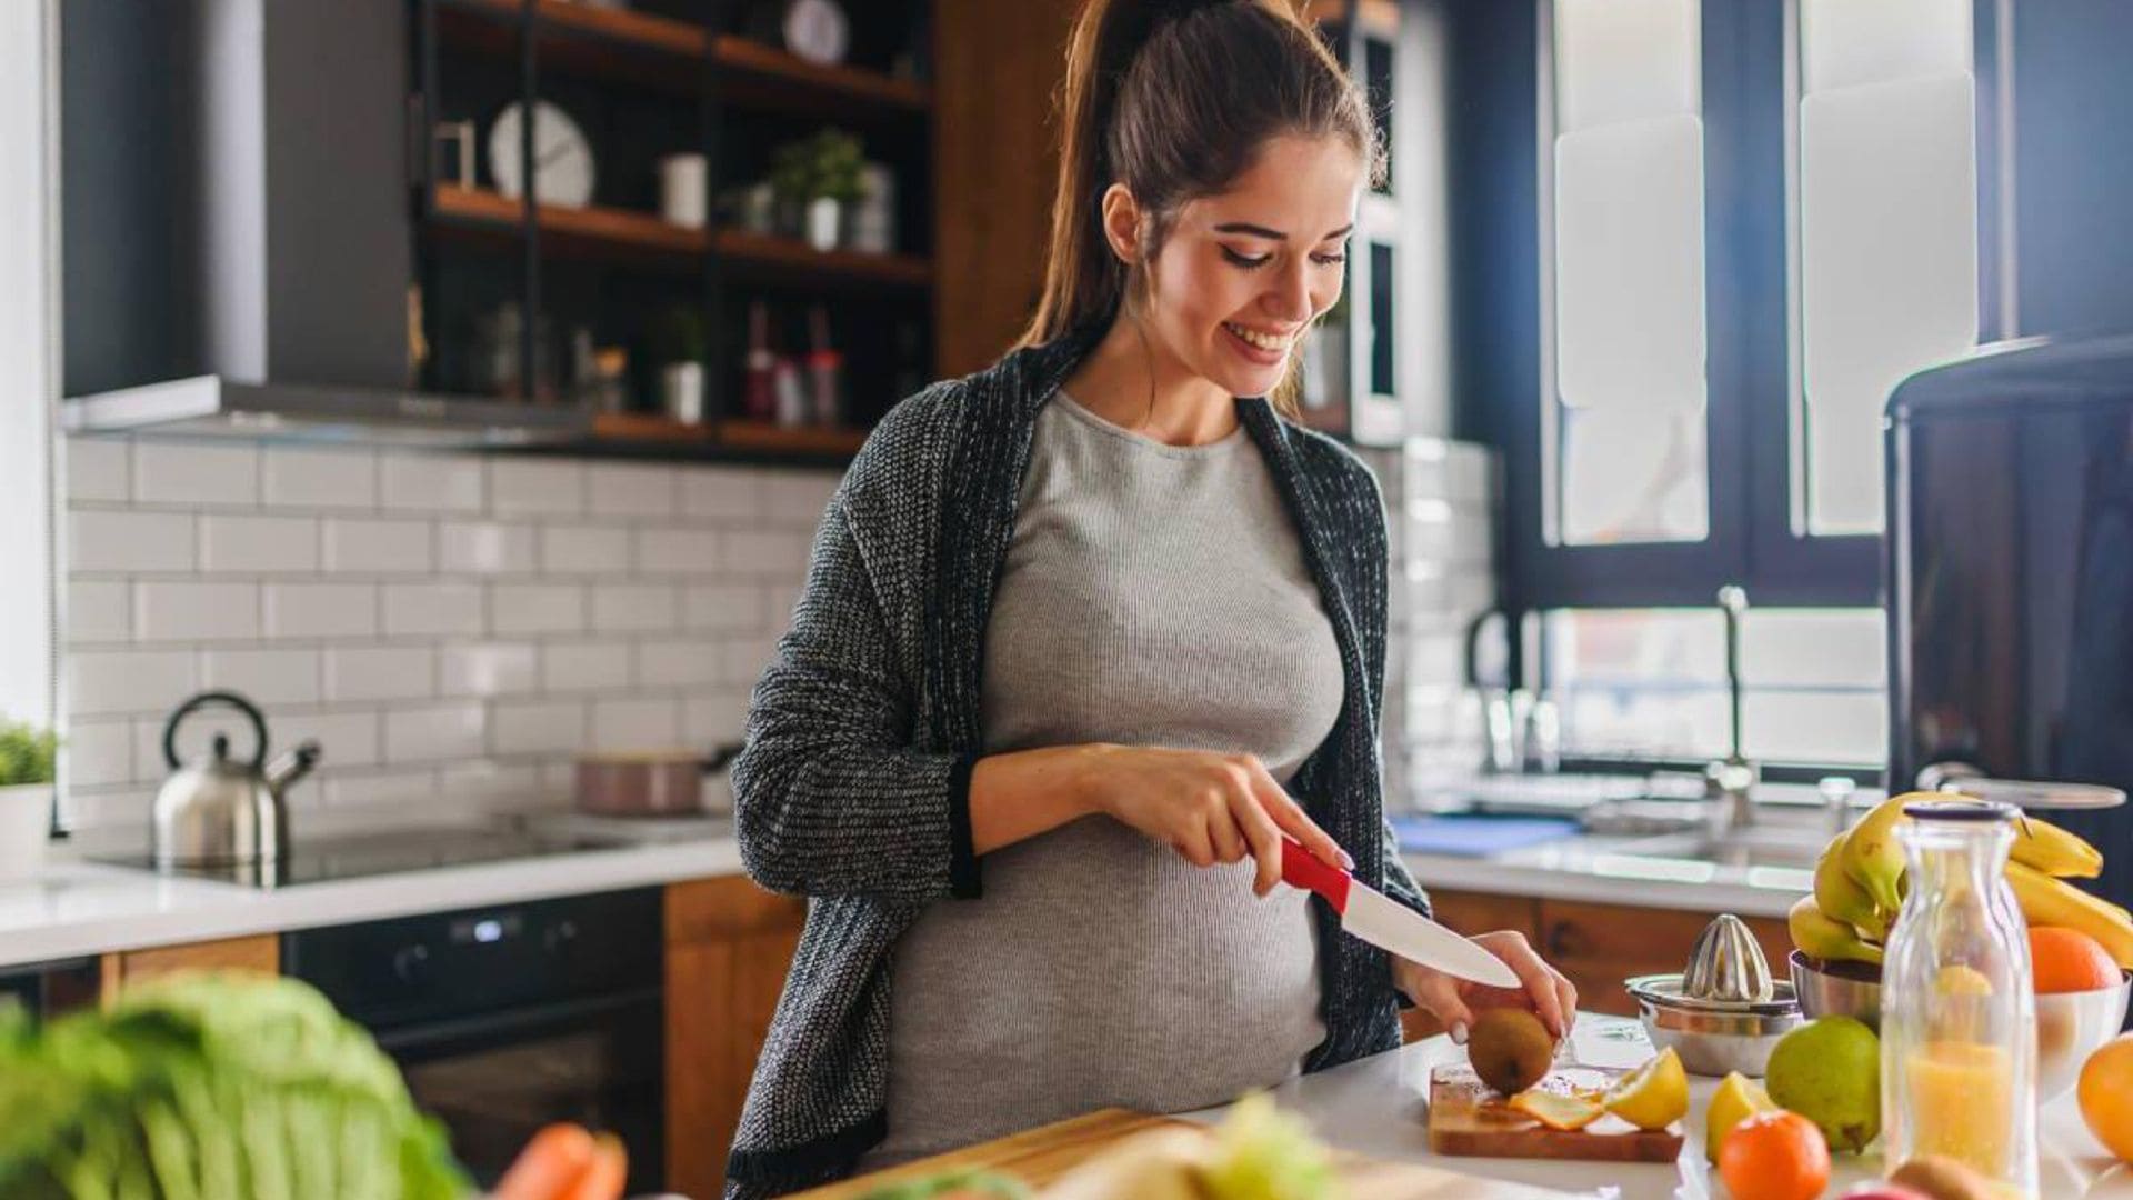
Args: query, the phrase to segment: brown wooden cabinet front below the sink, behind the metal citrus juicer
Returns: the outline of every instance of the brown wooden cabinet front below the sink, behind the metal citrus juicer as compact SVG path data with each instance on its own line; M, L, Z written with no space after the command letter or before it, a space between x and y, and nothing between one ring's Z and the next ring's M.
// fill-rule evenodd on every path
M1636 1016L1636 1001L1621 980L1679 972L1689 961L1696 935L1711 925L1709 912L1636 907L1583 901L1540 901L1540 952L1578 989L1578 1008ZM1783 972L1792 952L1785 922L1768 916L1745 918L1762 952Z

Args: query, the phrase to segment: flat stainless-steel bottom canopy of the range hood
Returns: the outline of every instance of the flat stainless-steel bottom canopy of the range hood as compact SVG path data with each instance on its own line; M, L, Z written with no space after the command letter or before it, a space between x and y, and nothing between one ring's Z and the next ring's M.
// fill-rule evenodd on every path
M331 384L192 376L62 406L68 433L164 433L418 448L533 446L591 433L582 408Z

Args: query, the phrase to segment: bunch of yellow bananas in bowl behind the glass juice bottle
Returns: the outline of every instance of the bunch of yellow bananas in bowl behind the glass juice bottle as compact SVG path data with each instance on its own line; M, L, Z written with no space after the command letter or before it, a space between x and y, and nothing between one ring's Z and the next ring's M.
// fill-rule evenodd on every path
M1881 961L1881 942L1888 940L1888 927L1896 922L1907 890L1896 826L1905 820L1905 805L1928 799L1952 796L1941 792L1890 796L1830 839L1815 863L1813 895L1800 897L1787 918L1792 944L1802 954L1824 961ZM2103 854L2095 846L2035 816L2016 822L2007 884L2022 905L2022 916L2031 925L2080 929L2101 942L2120 967L2133 967L2133 914L2060 882L2092 880L2101 871Z

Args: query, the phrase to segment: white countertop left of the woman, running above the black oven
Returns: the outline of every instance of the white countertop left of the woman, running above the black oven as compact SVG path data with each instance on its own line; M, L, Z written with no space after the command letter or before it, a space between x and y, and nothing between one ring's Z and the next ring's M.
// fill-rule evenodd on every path
M738 873L732 835L273 890L55 863L36 880L0 882L0 967Z

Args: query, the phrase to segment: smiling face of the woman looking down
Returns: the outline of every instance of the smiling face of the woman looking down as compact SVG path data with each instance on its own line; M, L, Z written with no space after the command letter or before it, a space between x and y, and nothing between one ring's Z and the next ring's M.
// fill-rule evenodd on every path
M1361 190L1363 156L1344 139L1269 141L1235 186L1177 211L1148 263L1148 335L1229 395L1273 391L1312 318L1340 299ZM1113 246L1130 250L1120 235L1133 226L1118 220L1128 214L1107 216Z

